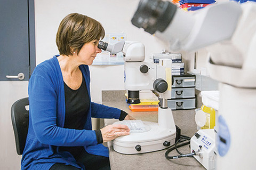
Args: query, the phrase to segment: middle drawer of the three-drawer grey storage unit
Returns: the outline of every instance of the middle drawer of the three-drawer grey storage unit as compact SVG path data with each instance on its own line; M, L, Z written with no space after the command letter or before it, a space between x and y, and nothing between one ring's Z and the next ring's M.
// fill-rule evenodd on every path
M195 87L172 88L172 99L195 98Z

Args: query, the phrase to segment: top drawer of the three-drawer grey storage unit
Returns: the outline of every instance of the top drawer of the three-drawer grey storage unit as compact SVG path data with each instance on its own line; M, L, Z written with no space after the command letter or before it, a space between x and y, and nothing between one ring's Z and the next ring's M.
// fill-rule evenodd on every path
M195 87L195 75L173 75L172 87Z

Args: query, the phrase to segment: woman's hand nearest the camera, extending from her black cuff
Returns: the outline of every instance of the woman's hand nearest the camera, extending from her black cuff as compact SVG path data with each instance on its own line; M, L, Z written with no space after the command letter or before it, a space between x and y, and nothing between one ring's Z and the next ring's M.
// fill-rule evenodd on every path
M103 142L108 142L116 139L119 136L125 136L130 134L130 129L126 125L115 124L108 125L100 129Z

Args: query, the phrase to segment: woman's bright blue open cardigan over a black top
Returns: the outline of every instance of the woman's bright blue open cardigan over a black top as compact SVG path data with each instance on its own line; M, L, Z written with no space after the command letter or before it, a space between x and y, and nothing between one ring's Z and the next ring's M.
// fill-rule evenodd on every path
M121 110L91 102L89 67L81 65L79 69L82 71L90 98L83 130L63 128L65 94L57 56L35 68L28 85L29 127L21 169L49 169L54 163L84 169L69 152L59 151L59 147L83 146L88 153L108 157L108 149L102 144L97 144L91 117L118 119Z

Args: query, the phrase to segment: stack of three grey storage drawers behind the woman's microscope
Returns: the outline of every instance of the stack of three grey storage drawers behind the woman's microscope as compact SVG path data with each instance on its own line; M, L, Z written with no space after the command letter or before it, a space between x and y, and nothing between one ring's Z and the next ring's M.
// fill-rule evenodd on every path
M168 107L172 110L195 109L195 75L172 75L172 99Z

